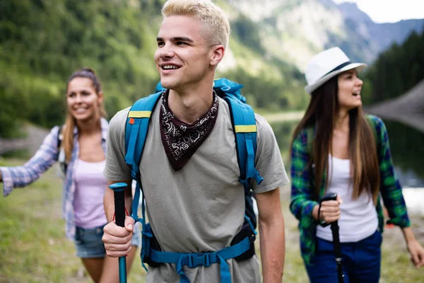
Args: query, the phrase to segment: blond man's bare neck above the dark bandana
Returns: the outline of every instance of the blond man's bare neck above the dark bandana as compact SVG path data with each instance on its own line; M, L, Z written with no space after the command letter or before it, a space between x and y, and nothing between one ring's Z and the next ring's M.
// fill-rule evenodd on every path
M213 81L184 89L170 90L168 107L179 120L193 124L211 108Z

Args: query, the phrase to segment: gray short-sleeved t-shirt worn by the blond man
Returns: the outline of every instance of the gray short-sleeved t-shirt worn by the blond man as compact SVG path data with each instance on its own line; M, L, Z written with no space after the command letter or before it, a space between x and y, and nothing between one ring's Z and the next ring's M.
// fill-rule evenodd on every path
M161 101L153 111L140 173L147 216L160 247L167 252L201 253L230 246L240 231L245 216L243 186L239 183L235 136L230 110L219 100L216 124L211 134L184 167L175 172L165 154L160 137ZM129 108L110 121L105 177L108 180L131 179L125 156L125 123ZM268 192L288 184L281 153L271 126L256 115L256 168L264 178L252 184L255 193ZM227 260L232 282L261 282L256 256L237 262ZM184 267L190 282L220 282L219 264L210 267ZM150 267L146 282L179 283L175 265Z

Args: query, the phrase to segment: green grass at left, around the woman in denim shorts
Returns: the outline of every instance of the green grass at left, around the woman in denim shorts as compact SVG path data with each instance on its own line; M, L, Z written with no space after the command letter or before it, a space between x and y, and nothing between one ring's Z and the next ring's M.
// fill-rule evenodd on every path
M0 159L0 166L21 163ZM91 282L65 237L61 184L52 168L25 189L0 197L0 282ZM137 256L129 282L143 283L145 275Z

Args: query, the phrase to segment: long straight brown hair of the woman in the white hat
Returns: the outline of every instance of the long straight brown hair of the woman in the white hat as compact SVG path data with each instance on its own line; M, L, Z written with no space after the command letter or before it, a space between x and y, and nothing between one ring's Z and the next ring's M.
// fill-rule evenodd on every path
M312 92L310 104L298 127L293 132L293 141L301 129L316 127L310 162L305 170L314 171L314 198L319 199L322 185L329 185L329 154L332 152L333 130L339 111L338 77L330 79ZM379 164L375 138L368 125L362 107L349 111L349 154L351 175L353 176L353 199L356 200L363 190L368 190L376 204L379 193ZM309 153L308 153L309 154ZM314 170L312 169L314 164ZM324 175L325 173L325 175ZM324 180L323 180L324 177Z

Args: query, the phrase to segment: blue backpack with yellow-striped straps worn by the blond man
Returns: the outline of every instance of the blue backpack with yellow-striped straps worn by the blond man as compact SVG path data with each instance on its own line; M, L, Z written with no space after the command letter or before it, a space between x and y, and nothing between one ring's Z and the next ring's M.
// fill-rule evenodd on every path
M158 267L162 263L174 263L177 273L180 275L181 283L189 283L189 279L184 274L184 265L187 267L209 266L220 262L221 283L230 283L231 275L227 262L230 258L235 260L247 260L254 255L254 240L257 232L257 218L254 214L252 202L252 190L250 183L252 178L259 184L263 180L259 172L254 167L255 153L257 149L257 126L254 111L247 105L246 98L240 93L243 86L228 79L217 79L214 81L213 89L217 95L223 98L230 108L232 118L232 128L235 133L235 143L237 146L237 160L240 167L240 183L245 187L245 223L242 230L237 233L232 240L230 247L216 252L206 253L170 253L163 252L159 243L153 235L150 224L145 221L145 202L143 187L141 186L139 164L143 147L148 134L148 126L151 113L155 105L160 100L160 96L165 91L160 83L156 87L156 92L146 98L141 98L132 105L126 119L125 129L125 161L131 168L131 178L136 180L136 191L132 202L131 217L135 221L140 221L142 226L141 262L147 270L146 265ZM142 218L137 215L139 207L140 192L143 195L141 200Z

